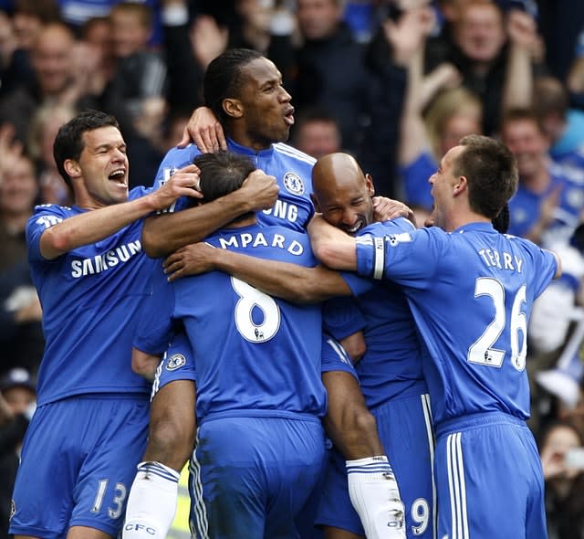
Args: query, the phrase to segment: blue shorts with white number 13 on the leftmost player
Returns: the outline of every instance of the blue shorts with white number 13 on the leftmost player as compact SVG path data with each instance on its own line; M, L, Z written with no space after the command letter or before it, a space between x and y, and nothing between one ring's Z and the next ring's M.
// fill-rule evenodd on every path
M26 430L10 534L65 537L71 526L116 536L146 449L146 396L73 396L36 408Z

